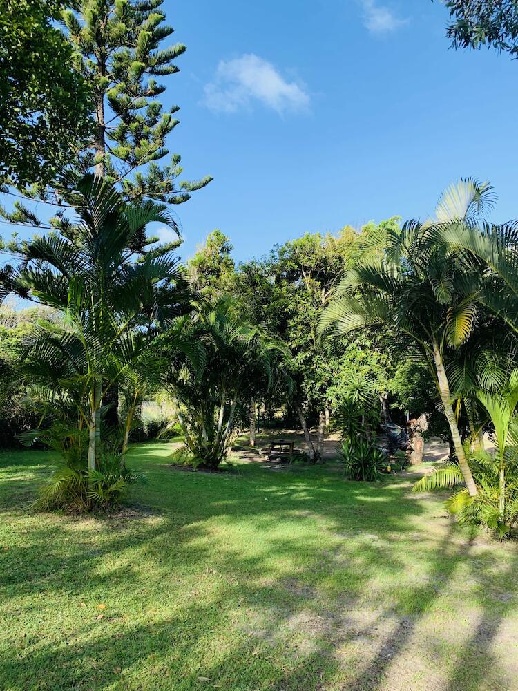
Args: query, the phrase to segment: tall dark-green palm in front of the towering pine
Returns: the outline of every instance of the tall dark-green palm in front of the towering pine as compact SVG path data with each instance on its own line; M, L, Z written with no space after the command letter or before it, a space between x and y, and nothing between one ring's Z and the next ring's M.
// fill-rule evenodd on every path
M23 243L7 288L59 310L64 328L41 327L23 368L39 394L74 406L88 428L88 468L101 453L101 410L113 387L169 317L182 281L169 246L150 247L146 226L173 218L153 203L126 204L92 175L73 182L77 218Z

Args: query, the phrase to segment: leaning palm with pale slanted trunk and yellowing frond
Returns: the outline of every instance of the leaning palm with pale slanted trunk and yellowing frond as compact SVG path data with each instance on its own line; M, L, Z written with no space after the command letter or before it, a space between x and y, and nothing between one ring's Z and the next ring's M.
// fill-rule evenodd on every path
M367 326L386 328L394 347L425 361L448 421L455 453L470 495L477 495L466 460L445 368L452 348L470 337L477 323L480 263L471 265L437 240L437 224L469 223L490 207L487 184L460 180L439 199L435 220L410 221L390 231L381 260L350 270L320 321L329 339Z

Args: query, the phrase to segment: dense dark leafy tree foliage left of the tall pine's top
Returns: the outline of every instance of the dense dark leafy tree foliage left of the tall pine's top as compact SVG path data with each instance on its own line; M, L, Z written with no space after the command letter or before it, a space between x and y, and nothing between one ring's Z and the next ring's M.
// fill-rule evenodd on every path
M0 2L0 182L52 182L90 137L90 91L55 26L61 6Z

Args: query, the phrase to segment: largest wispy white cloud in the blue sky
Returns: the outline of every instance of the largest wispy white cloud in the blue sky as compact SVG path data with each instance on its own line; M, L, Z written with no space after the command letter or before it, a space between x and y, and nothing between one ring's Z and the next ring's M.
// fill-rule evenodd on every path
M262 57L249 54L221 60L212 82L204 88L204 104L211 111L234 113L254 101L278 113L303 111L309 96L296 82L287 82Z

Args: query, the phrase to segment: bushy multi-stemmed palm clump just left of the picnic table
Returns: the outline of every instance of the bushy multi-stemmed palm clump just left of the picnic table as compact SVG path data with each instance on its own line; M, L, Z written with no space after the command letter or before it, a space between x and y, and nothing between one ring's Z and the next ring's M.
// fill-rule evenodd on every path
M173 346L162 383L171 395L189 452L215 468L227 455L236 427L236 410L274 377L285 346L251 324L238 305L223 297L214 304L193 303L193 312L169 330L173 343L197 343L194 360ZM164 334L167 341L168 334Z

